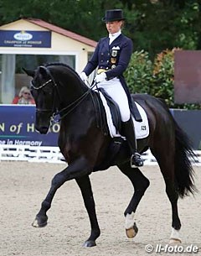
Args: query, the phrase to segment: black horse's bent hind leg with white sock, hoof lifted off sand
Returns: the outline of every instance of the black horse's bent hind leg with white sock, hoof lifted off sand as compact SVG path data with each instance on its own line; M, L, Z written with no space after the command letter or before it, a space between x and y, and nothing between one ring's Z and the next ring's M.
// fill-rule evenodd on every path
M131 183L134 187L134 194L131 197L131 201L126 208L126 211L124 212L126 217L126 236L128 238L134 238L138 231L134 215L137 210L137 206L141 201L144 192L147 190L150 182L139 169L131 168L130 163L118 165L118 167L121 172L131 180Z

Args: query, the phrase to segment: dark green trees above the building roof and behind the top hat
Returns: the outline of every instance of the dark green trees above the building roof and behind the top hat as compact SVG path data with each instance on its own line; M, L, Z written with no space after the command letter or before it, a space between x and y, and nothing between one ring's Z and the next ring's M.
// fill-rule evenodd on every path
M18 18L41 18L98 40L106 34L101 18L109 8L123 8L125 34L134 50L151 58L174 47L201 48L201 2L199 0L18 0L0 3L0 24Z

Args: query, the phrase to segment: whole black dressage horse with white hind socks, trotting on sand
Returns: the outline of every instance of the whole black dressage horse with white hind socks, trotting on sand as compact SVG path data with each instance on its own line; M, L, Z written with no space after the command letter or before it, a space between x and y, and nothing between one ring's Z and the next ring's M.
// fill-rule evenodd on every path
M48 195L42 202L33 227L47 225L47 211L51 207L55 192L67 180L75 179L80 187L85 208L90 217L90 237L85 247L95 246L95 240L101 234L95 213L95 201L90 185L90 173L106 170L117 165L134 187L134 194L124 212L126 217L126 235L134 238L137 225L134 213L147 190L149 180L139 169L131 169L130 150L126 141L116 143L100 126L99 111L101 102L97 92L89 89L77 73L68 65L51 63L39 66L36 70L23 69L33 77L31 92L36 102L35 128L39 133L48 133L51 120L59 116L59 149L68 166L54 176ZM178 217L178 196L194 193L193 168L190 158L193 150L188 137L173 119L167 105L161 99L146 94L131 96L147 112L150 133L147 138L137 140L139 151L151 149L157 159L166 184L166 192L171 202L173 231L171 242L181 242Z

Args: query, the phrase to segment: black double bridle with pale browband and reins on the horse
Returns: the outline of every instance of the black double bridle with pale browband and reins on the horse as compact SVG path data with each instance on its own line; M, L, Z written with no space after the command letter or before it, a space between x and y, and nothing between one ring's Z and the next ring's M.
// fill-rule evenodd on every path
M45 68L45 70L49 74L50 79L48 81L45 81L44 84L39 87L33 86L33 81L31 81L31 88L38 91L38 90L43 89L44 86L47 86L47 85L49 85L49 83L51 83L56 88L56 93L57 93L57 95L59 97L59 101L60 101L59 89L58 89L57 83L54 81L54 77L52 76L52 74L46 67L43 66L43 68ZM59 123L60 120L63 119L64 117L66 117L70 112L72 112L75 109L75 107L78 107L80 105L80 102L82 102L85 99L85 97L87 97L89 94L91 94L91 90L94 86L91 86L87 91L85 91L85 93L83 95L81 95L74 102L71 102L67 107L62 108L61 110L58 110L58 107L55 107L56 98L54 97L54 103L53 103L52 109L36 108L36 112L52 112L52 116L50 117L51 125L53 125L54 123ZM60 116L60 118L57 120L54 120L54 118L58 115Z

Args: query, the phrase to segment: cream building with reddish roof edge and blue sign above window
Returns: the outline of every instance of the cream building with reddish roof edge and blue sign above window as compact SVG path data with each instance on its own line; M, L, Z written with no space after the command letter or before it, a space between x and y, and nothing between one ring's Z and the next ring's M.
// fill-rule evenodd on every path
M82 71L96 42L41 19L22 18L0 27L0 103L9 104L29 79L22 67L62 62Z

